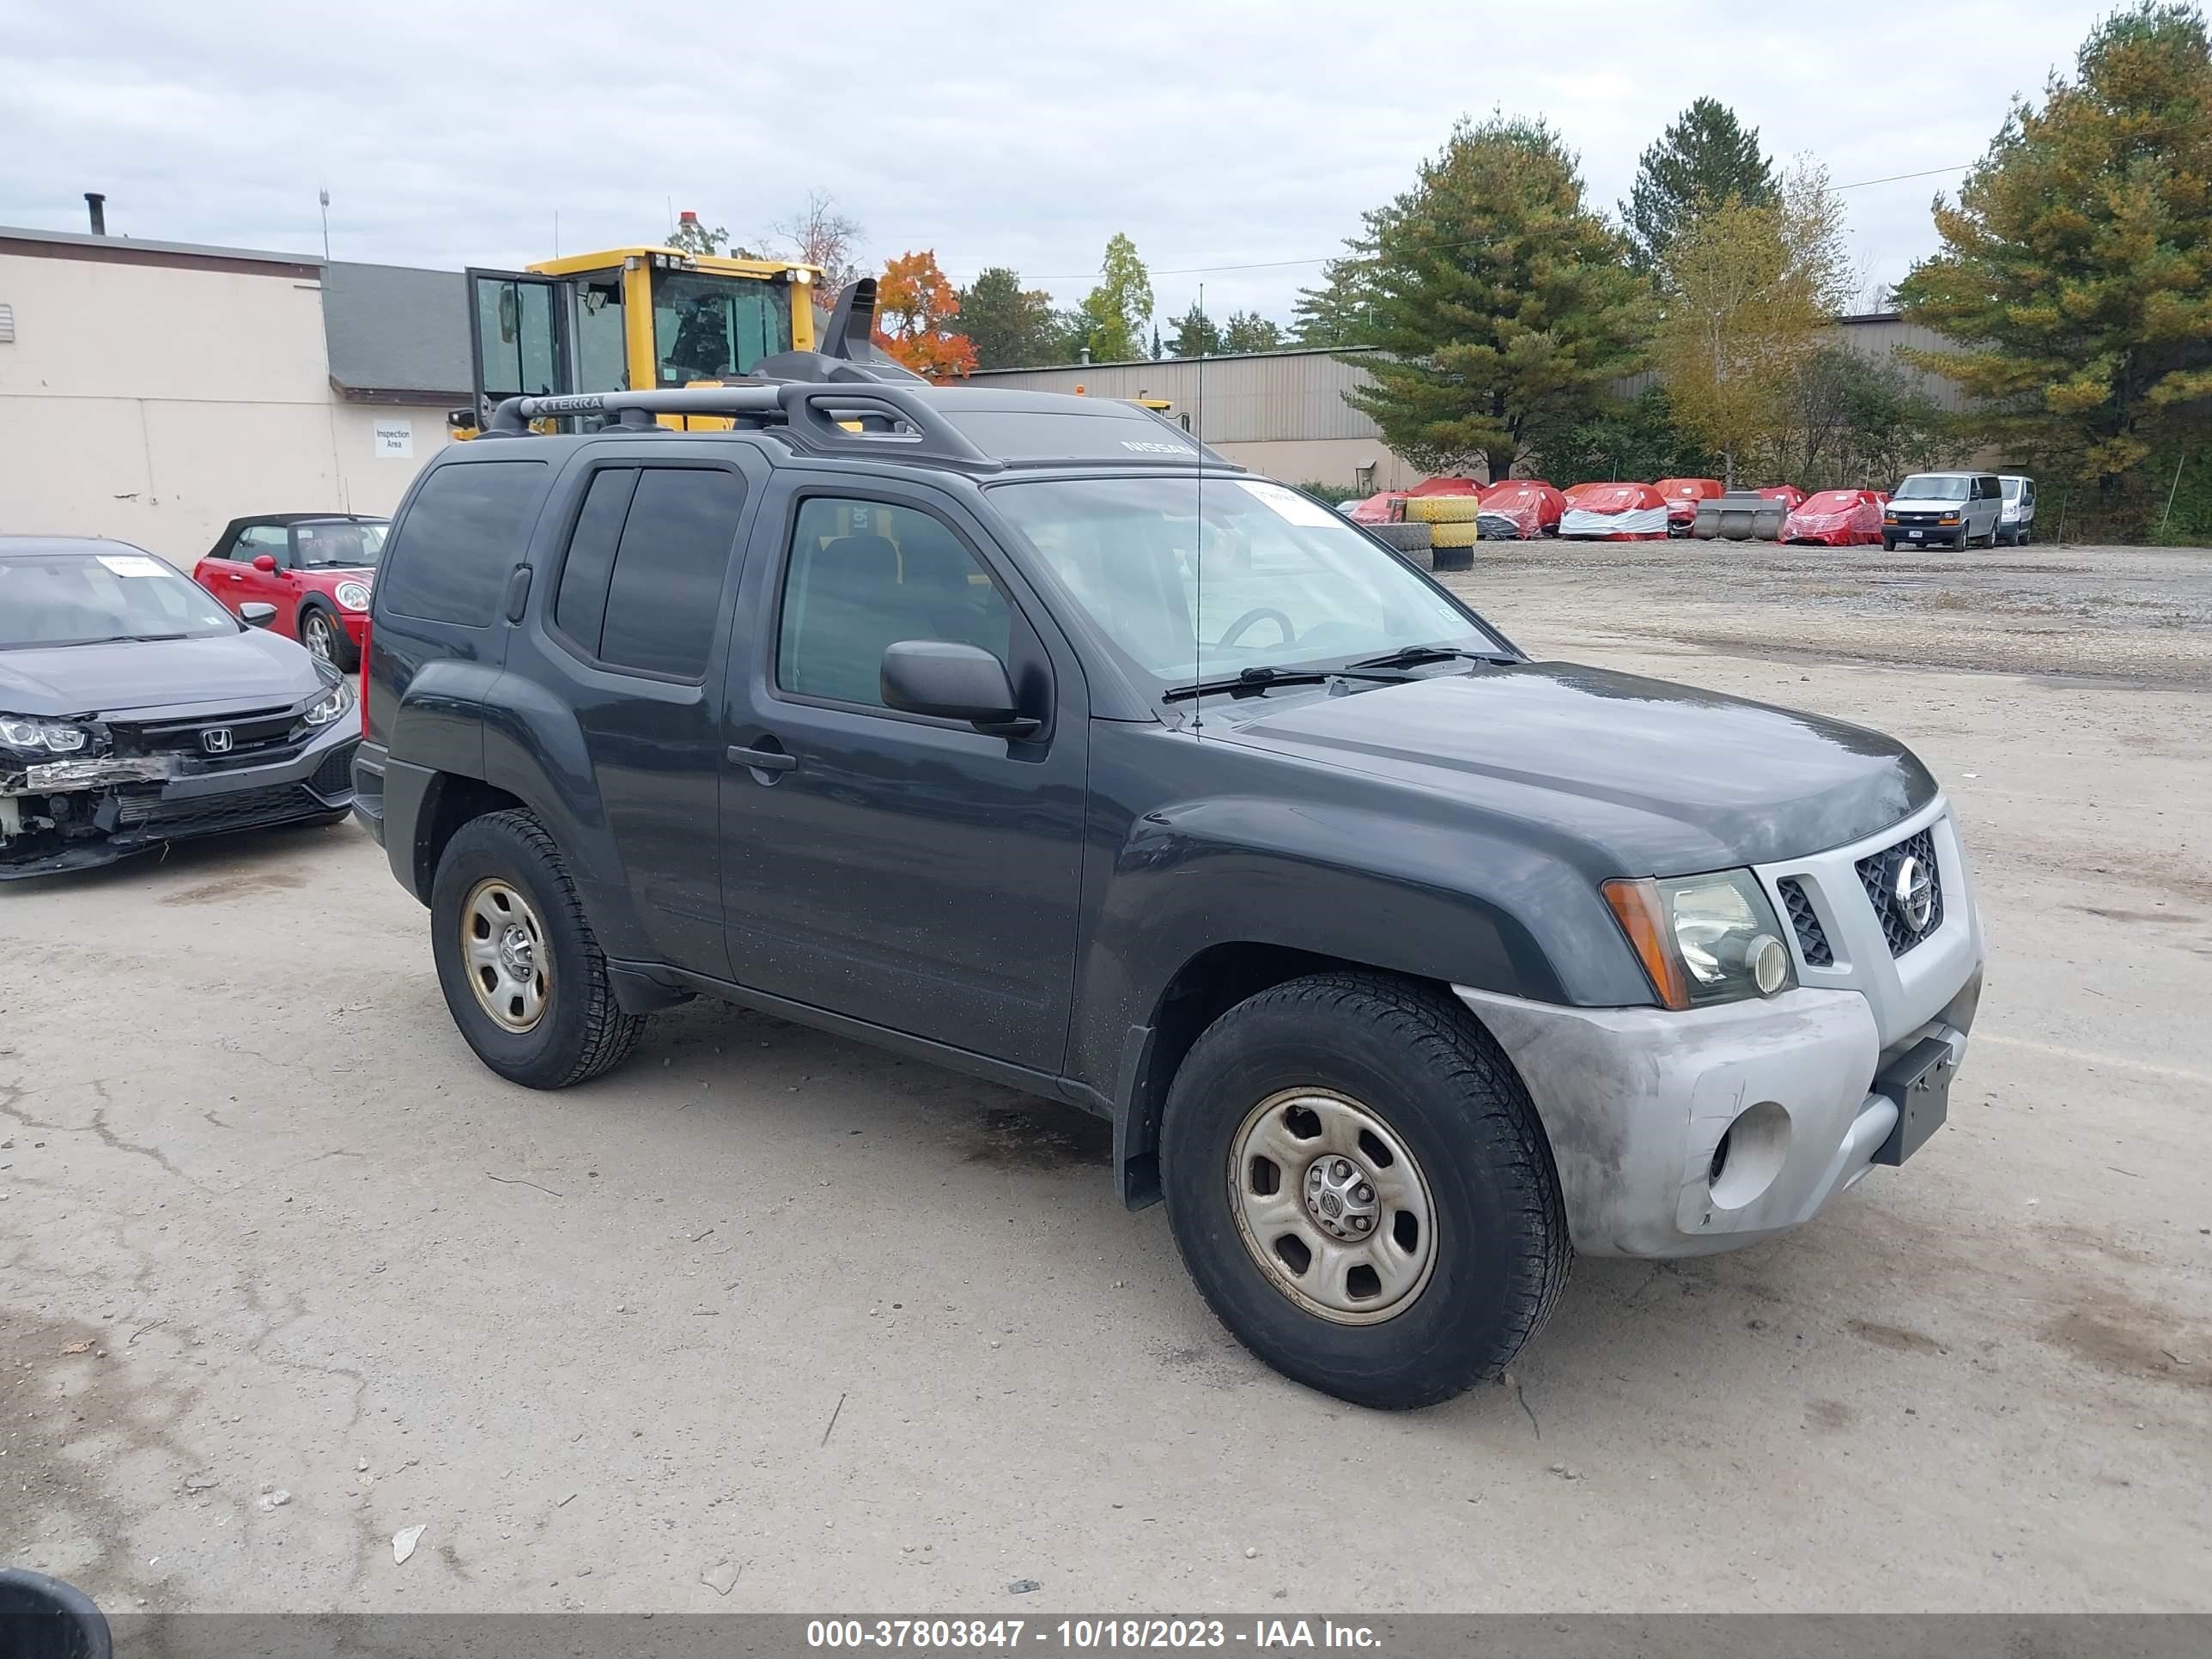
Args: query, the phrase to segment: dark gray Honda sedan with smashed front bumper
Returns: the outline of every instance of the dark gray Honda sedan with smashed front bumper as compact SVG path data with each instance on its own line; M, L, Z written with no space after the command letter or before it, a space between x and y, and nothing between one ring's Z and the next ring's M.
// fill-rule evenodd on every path
M0 535L0 880L347 816L352 688L243 615L124 542Z

